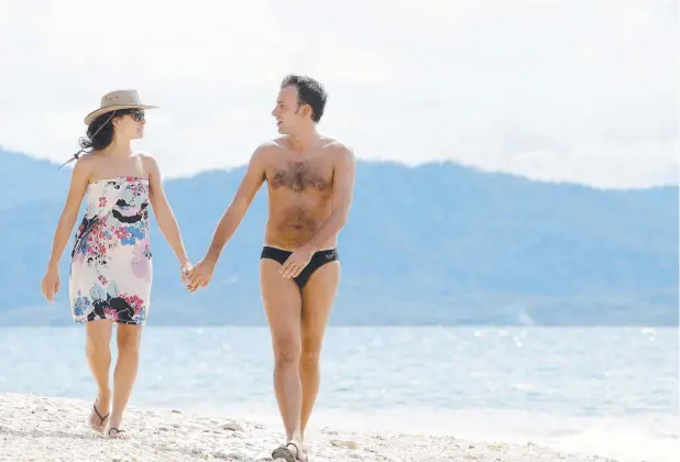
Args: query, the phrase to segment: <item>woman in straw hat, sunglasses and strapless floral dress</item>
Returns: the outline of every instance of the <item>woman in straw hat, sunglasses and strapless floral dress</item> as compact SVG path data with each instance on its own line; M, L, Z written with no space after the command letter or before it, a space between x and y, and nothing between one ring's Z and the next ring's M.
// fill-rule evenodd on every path
M87 193L87 208L72 251L69 297L73 319L86 324L86 355L99 393L89 425L123 437L123 411L136 378L142 327L149 315L152 252L149 205L172 246L183 280L190 271L177 221L163 191L153 157L133 154L132 140L144 135L144 110L134 90L113 91L85 118L87 138L68 162L76 161L66 205L56 228L42 292L54 300L58 263ZM89 152L81 155L84 150ZM117 324L118 362L109 387L110 341Z

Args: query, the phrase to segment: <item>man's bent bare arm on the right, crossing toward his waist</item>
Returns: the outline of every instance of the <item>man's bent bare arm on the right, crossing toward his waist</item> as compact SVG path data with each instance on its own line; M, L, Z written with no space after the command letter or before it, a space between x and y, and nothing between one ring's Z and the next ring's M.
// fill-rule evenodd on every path
M305 250L311 252L320 250L323 243L340 232L347 223L354 196L354 153L341 146L333 172L332 212L311 239L303 245Z

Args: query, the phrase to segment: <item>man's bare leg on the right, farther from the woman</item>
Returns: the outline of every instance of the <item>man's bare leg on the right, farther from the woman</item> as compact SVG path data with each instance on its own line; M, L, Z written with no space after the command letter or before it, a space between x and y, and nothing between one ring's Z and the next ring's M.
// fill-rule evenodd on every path
M315 271L303 287L303 353L299 370L303 382L303 438L319 393L319 356L339 282L340 262L334 261Z

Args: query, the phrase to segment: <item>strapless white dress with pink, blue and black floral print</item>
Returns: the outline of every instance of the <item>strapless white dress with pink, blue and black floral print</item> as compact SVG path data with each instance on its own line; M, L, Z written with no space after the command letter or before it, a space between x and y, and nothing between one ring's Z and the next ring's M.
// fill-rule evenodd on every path
M76 322L144 324L152 284L149 180L90 182L75 235L68 289Z

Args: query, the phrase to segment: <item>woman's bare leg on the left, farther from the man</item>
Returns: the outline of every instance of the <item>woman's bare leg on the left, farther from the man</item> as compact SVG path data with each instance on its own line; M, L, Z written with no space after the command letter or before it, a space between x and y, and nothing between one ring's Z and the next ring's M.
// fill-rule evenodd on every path
M90 426L97 431L103 431L106 428L111 402L109 370L112 327L113 323L108 319L86 323L85 354L98 388L97 400L90 415Z

